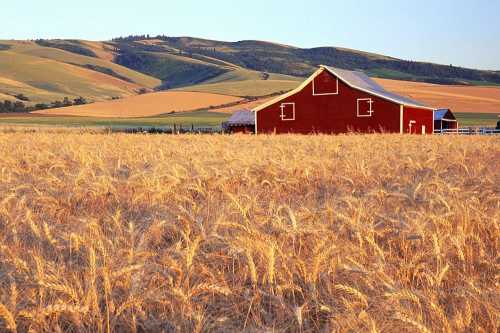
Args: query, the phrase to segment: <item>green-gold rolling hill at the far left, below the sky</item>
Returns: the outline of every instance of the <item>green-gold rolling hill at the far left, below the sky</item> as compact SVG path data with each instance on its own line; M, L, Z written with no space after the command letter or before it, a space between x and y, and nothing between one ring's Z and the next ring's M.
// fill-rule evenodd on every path
M156 78L110 61L40 46L28 41L0 41L0 93L23 94L29 103L84 96L99 101L152 90Z

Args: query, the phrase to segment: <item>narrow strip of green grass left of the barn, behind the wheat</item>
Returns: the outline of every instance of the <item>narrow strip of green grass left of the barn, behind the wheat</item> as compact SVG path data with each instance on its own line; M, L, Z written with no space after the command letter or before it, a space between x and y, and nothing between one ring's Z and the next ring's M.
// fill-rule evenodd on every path
M181 125L184 127L218 127L230 115L225 113L196 111L181 112L150 118L93 118L93 117L67 117L67 116L9 116L2 117L0 124L3 125L43 125L61 127L172 127Z

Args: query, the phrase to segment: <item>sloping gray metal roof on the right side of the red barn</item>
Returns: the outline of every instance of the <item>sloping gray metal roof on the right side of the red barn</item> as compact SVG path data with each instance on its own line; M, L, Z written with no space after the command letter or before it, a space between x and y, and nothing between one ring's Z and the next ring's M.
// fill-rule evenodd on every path
M364 90L368 93L372 93L374 95L391 100L399 104L425 107L425 105L423 105L422 103L417 102L411 98L400 96L398 94L394 94L385 90L381 85L373 81L365 73L357 71L349 71L329 66L322 66L322 67L324 67L326 70L328 70L333 75L337 76L340 80L344 81L344 83L353 88Z

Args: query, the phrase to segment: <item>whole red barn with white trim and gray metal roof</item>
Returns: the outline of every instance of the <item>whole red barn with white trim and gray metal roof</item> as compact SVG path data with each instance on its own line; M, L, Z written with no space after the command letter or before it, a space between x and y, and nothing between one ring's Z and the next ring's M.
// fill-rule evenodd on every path
M253 111L256 133L434 132L435 109L386 91L364 73L327 66Z

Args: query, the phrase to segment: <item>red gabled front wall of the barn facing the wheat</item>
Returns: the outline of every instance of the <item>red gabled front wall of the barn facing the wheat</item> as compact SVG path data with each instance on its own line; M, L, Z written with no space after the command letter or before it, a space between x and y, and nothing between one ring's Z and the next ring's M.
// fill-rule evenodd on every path
M329 77L324 77L325 75ZM316 77L316 86L320 82L332 82L332 77L335 85L330 91L334 92L336 78L327 71ZM338 95L313 96L313 82L311 82L296 94L258 111L257 133L335 134L349 131L399 133L399 104L353 89L340 80L338 88ZM328 89L323 86L320 87L320 91L324 93L328 92ZM373 101L371 117L358 117L357 100L363 98L371 98ZM283 103L295 103L294 120L281 119L280 107Z

